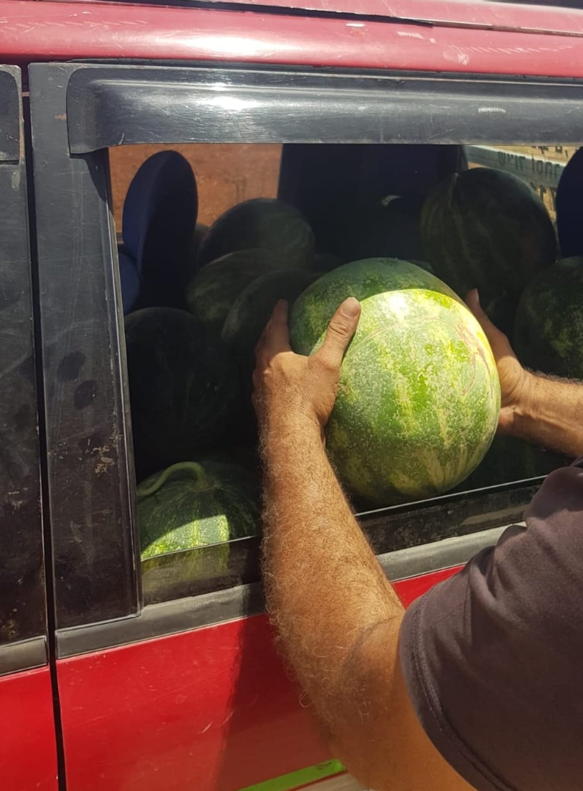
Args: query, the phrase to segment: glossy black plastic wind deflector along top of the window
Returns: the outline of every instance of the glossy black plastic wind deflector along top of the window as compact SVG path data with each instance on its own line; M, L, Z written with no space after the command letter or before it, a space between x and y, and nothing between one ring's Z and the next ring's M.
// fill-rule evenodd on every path
M581 142L583 85L576 81L68 68L71 153L161 142Z

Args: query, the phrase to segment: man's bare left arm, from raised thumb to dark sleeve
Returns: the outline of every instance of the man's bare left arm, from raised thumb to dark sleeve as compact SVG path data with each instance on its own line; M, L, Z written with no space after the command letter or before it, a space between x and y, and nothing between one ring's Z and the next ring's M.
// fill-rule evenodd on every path
M376 791L468 791L411 706L398 659L403 607L324 451L358 316L358 303L346 301L305 358L290 350L281 303L259 343L267 606L331 750L358 780Z

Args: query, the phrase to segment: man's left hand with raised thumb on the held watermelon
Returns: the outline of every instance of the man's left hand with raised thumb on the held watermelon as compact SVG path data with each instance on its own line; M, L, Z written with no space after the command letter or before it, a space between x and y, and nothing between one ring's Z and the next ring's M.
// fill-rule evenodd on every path
M349 297L332 316L324 343L310 357L290 347L286 301L275 305L256 348L253 403L259 426L271 420L308 419L323 431L334 408L340 365L360 317L360 304Z

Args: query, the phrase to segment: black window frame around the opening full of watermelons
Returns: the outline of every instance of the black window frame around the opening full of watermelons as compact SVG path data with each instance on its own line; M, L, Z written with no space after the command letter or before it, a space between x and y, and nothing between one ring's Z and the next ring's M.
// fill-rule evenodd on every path
M87 62L33 64L29 84L59 656L256 611L258 539L233 542L229 570L212 584L177 580L161 592L156 568L145 566L142 589L107 149L188 142L578 144L583 81ZM73 373L59 380L69 363ZM490 530L520 521L539 483L451 494L360 519L387 568L400 551L417 558L411 569L422 557L429 571L437 556L447 566L443 539L463 543L465 535L470 548L479 536L491 538ZM88 504L92 524L85 524ZM214 547L197 552L212 560ZM165 580L180 558L167 559Z

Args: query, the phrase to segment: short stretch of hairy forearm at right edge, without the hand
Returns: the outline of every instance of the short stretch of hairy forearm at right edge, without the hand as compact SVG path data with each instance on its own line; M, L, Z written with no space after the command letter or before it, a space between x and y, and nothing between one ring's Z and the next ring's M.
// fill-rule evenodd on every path
M566 456L582 456L583 384L531 374L513 434Z

